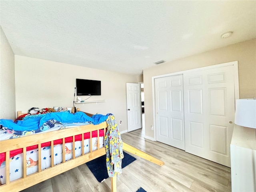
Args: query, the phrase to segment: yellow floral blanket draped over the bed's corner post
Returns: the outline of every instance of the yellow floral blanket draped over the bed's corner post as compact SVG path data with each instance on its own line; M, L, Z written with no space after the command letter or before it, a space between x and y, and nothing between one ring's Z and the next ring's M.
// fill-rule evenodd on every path
M117 174L119 180L120 173L122 173L122 158L124 158L123 142L114 115L109 115L106 122L108 130L104 138L104 144L108 176L114 177Z

